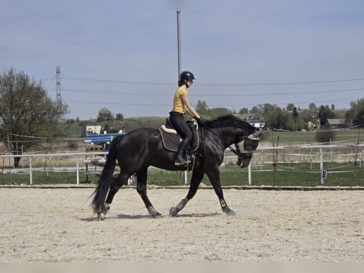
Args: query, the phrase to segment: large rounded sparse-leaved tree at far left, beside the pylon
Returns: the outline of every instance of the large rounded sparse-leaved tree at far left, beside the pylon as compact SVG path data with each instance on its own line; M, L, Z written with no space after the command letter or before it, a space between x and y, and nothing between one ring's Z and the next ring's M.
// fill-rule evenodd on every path
M53 101L46 87L39 80L31 79L24 71L14 68L0 75L0 137L13 154L21 154L40 142L29 141L33 136L59 138L65 135L62 119L69 114L68 105L62 100ZM19 167L19 157L14 166Z

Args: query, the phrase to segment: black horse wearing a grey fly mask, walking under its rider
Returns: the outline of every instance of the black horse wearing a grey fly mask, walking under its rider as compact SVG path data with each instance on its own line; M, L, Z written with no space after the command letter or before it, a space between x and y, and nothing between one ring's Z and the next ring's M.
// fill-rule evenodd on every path
M194 152L195 163L189 192L186 198L182 199L176 207L170 209L171 216L176 216L185 207L186 203L194 197L205 173L219 198L222 211L227 215L235 215L234 211L227 206L223 197L219 166L223 161L225 149L232 144L235 144L240 154L238 165L241 167L248 166L253 151L258 147L258 136L262 130L258 131L256 127L233 115L221 116L206 121L204 129L203 132L201 128L198 130L201 143ZM98 186L93 193L92 207L94 213L98 214L97 219L104 219L105 214L110 209L114 195L134 173L137 175L137 191L142 197L149 214L154 218L161 216L147 197L147 171L149 166L170 171L185 170L186 167L184 166L174 165L175 155L176 153L167 151L162 146L161 135L157 129L139 128L114 138L110 144ZM113 180L112 175L115 170L116 159L118 159L120 166L120 174Z

